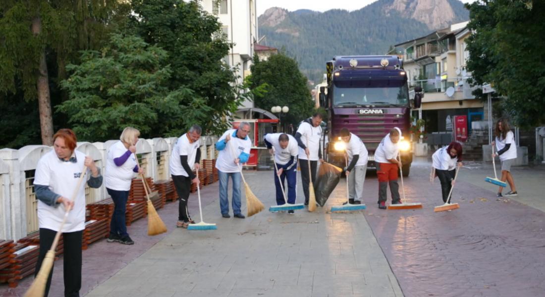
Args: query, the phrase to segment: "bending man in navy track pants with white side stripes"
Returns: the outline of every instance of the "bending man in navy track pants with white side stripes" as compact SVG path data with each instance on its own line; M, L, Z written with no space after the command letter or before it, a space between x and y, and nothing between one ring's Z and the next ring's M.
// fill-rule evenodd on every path
M283 205L284 194L282 187L284 180L288 180L288 203L295 204L297 196L297 155L299 147L295 138L288 134L274 133L265 135L265 145L271 154L274 154L274 162L276 162L274 184L276 186L276 204ZM274 150L273 150L274 148ZM278 180L280 177L280 180ZM282 187L280 187L282 183ZM288 210L288 214L293 214L293 210Z

